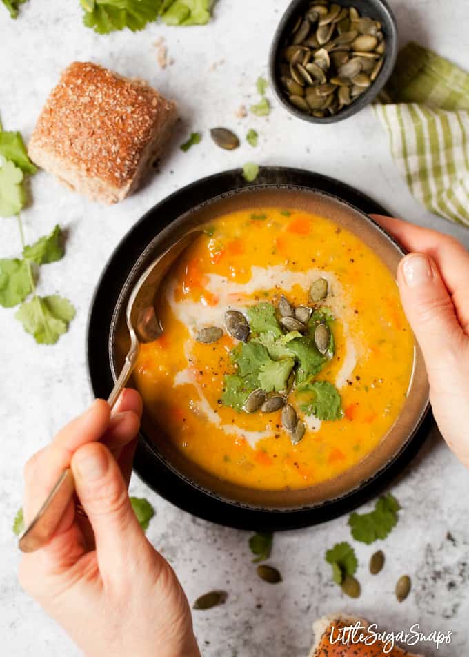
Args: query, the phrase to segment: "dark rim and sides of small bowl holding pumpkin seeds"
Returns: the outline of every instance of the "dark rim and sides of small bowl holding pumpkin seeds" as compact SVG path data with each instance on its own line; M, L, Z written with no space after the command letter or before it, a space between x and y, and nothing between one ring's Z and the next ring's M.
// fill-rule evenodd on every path
M383 15L386 15L390 24L390 32L387 37L389 40L389 52L388 55L386 55L383 68L379 72L377 79L375 79L375 81L370 85L366 92L363 92L359 98L350 103L346 109L328 117L313 117L312 115L305 114L305 112L301 112L301 110L288 103L277 79L277 52L281 47L283 32L286 30L286 27L292 19L292 16L297 11L299 11L301 5L308 3L308 1L309 0L292 0L279 21L279 24L274 33L274 37L272 39L268 57L268 77L270 79L270 86L272 87L272 92L274 93L275 98L277 101L279 101L281 106L283 106L283 108L285 108L290 114L297 117L298 119L302 119L303 121L308 121L308 123L315 124L337 123L339 121L343 121L344 119L348 119L348 117L357 114L368 105L370 105L390 78L396 63L399 43L397 20L387 0L367 0L376 6L377 12L382 12ZM337 0L337 4L343 6L352 6L353 0Z

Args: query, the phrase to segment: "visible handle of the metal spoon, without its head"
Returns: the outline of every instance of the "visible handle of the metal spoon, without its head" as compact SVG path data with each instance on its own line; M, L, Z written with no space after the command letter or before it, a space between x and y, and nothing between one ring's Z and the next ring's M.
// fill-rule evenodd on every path
M132 374L137 360L137 354L138 345L132 345L119 378L108 398L108 404L111 409L117 402L117 398ZM61 473L41 508L19 537L18 546L22 552L34 552L50 541L61 521L63 513L68 507L68 503L73 497L74 491L75 482L72 470L67 468Z

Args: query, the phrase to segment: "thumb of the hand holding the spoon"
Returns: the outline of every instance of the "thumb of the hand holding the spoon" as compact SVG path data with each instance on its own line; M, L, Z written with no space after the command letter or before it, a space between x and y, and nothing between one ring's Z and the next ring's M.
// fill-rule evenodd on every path
M101 573L121 572L146 538L119 466L105 445L93 442L74 453L72 471L94 531L99 569Z

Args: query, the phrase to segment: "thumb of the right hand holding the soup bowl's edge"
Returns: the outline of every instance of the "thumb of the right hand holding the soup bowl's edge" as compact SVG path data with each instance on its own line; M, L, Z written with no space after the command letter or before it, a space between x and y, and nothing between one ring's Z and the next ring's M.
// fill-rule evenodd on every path
M409 253L397 273L403 309L425 358L428 375L448 366L462 329L434 260Z

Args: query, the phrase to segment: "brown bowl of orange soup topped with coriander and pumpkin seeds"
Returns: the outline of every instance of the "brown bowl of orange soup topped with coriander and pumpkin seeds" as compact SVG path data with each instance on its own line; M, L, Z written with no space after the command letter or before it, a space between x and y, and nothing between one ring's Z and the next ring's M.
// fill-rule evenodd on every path
M199 493L250 509L308 509L366 486L428 409L395 280L401 248L308 188L210 199L137 258L114 308L114 378L132 286L194 228L155 298L162 333L141 345L130 382L150 451Z

